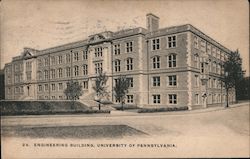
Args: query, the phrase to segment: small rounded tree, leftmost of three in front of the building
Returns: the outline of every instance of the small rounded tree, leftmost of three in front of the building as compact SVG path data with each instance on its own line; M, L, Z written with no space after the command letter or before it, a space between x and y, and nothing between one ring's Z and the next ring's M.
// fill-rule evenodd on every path
M64 94L68 100L72 101L72 107L74 107L74 101L79 99L79 97L83 94L82 86L79 82L71 80L67 83L67 88L64 90Z

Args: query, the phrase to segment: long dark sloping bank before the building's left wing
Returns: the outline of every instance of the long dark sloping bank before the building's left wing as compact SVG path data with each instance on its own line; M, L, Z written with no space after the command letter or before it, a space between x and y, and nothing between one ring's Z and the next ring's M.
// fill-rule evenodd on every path
M92 110L75 101L0 101L1 116L110 113L109 110Z

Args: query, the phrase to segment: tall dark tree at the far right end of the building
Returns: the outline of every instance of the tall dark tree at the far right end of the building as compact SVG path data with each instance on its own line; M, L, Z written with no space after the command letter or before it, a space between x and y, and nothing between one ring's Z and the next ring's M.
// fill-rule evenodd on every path
M228 93L231 89L236 90L239 86L240 81L243 78L242 71L242 59L240 57L239 51L231 52L229 57L224 63L224 74L222 77L222 82L226 89L226 102L228 107ZM236 91L237 92L237 91Z

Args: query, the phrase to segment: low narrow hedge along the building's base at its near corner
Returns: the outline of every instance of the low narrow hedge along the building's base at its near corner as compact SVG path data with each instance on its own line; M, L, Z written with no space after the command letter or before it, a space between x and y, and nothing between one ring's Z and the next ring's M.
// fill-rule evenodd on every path
M138 113L154 113L154 112L168 112L168 111L183 111L188 110L187 106L181 107L166 107L166 108L141 108Z

